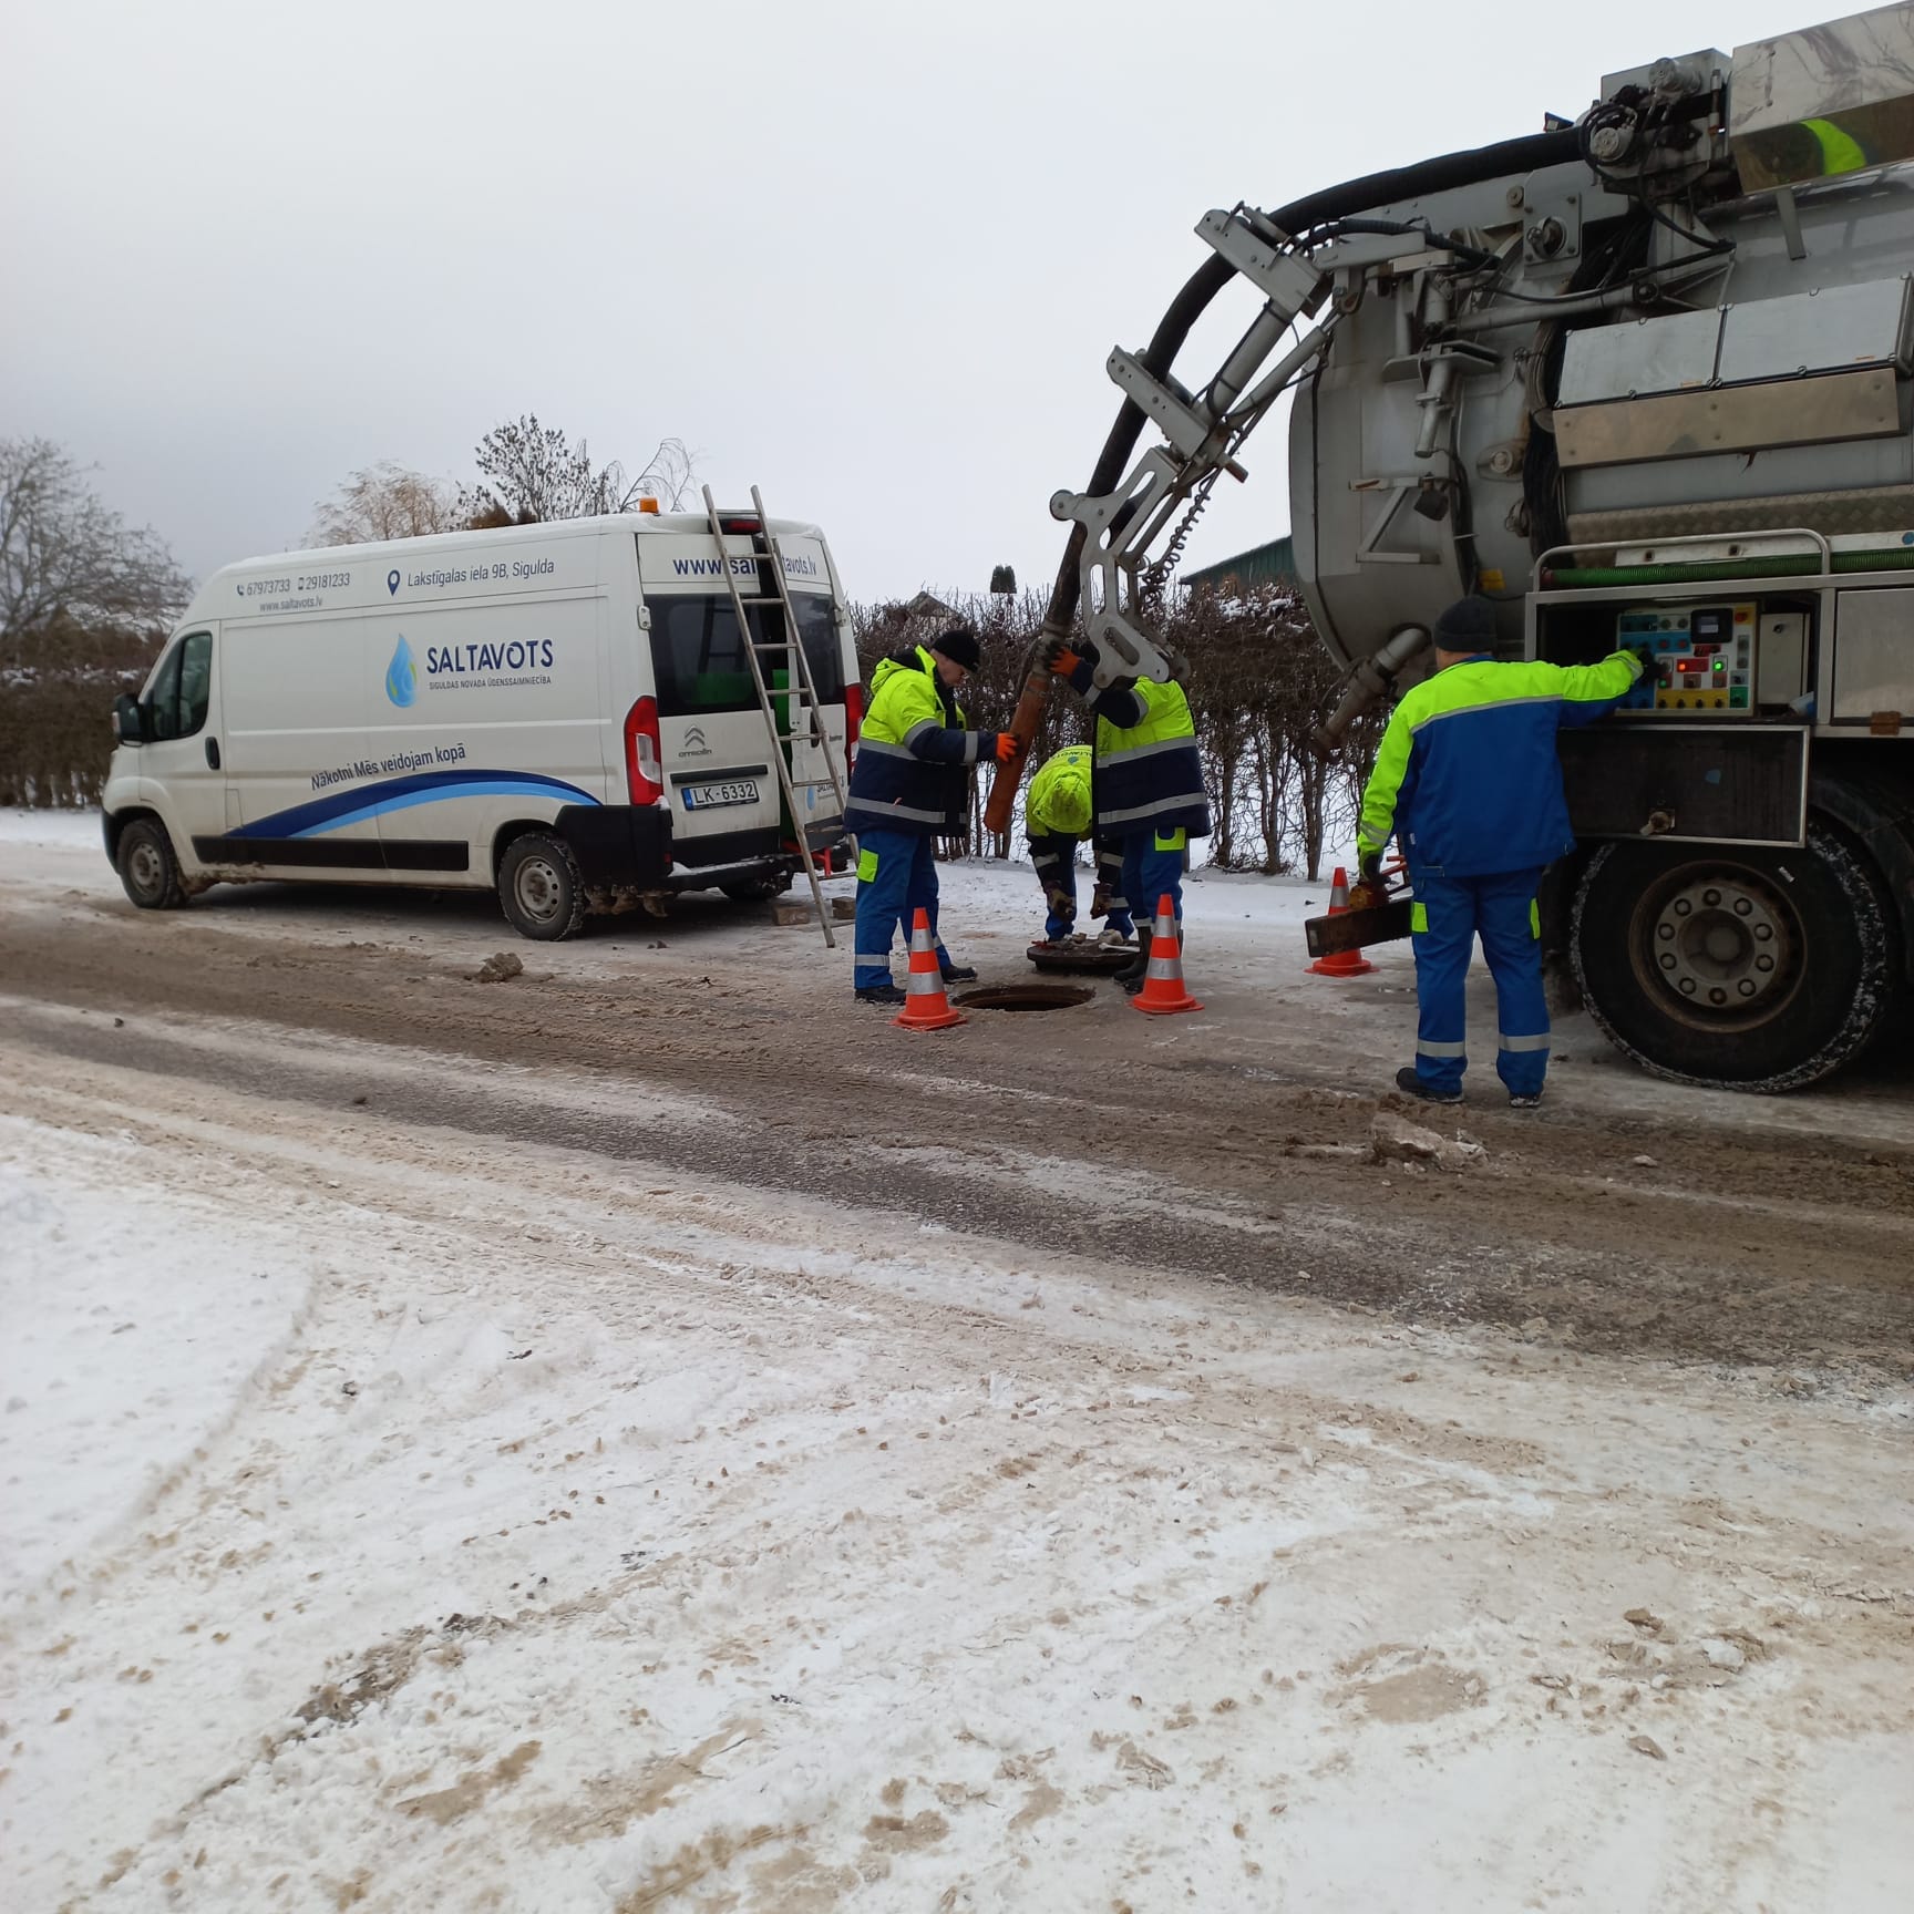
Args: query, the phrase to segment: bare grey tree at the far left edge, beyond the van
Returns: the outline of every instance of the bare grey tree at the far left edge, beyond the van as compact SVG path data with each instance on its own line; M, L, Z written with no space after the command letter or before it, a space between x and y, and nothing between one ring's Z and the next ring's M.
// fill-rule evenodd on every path
M59 618L149 630L191 595L157 532L109 511L65 448L0 438L0 641L17 655Z

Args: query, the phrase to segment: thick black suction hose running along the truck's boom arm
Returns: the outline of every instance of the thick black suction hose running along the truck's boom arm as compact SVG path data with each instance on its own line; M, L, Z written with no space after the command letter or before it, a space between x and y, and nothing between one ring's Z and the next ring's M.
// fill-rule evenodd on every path
M1393 172L1372 172L1365 180L1349 180L1344 186L1330 186L1307 199L1298 199L1288 207L1279 207L1269 218L1286 234L1309 232L1324 220L1349 218L1372 207L1393 207L1403 199L1416 199L1422 193L1445 193L1457 186L1478 186L1481 180L1497 180L1510 172L1535 172L1541 167L1560 167L1579 159L1573 128L1566 132L1525 134L1520 140L1502 140L1497 145L1478 145L1466 153L1447 153L1441 159L1426 159L1414 167L1397 167ZM1183 291L1169 302L1156 331L1143 352L1143 366L1152 377L1169 371L1191 327L1202 318L1210 300L1235 278L1229 264L1212 255L1191 274ZM1116 488L1129 469L1129 456L1137 450L1137 436L1143 431L1143 408L1135 400L1124 400L1110 436L1102 442L1102 456L1083 488L1091 498L1101 498ZM1043 620L1043 630L1060 637L1070 630L1076 614L1081 576L1078 565L1083 557L1085 530L1081 524L1070 526L1070 542L1064 545L1064 561L1057 568L1057 584L1051 588L1051 609Z

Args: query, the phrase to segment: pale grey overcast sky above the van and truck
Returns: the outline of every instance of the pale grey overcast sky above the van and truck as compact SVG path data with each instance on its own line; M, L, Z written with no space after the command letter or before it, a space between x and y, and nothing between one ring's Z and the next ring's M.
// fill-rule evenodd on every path
M469 478L536 412L634 467L683 438L720 500L817 519L854 597L1045 584L1104 356L1208 207L1834 11L0 0L0 434L98 465L197 576L375 459ZM1288 528L1277 423L1246 463L1187 565Z

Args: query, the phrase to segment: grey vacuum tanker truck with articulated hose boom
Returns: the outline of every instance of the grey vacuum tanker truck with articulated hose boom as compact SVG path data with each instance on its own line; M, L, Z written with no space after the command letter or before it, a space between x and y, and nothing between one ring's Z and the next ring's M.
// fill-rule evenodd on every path
M1914 980L1914 6L1608 75L1575 121L1263 211L1141 350L1049 630L1166 678L1152 611L1290 398L1296 570L1346 666L1324 746L1430 668L1646 647L1564 733L1550 926L1650 1070L1755 1091L1881 1041ZM1254 316L1194 385L1231 285ZM1135 454L1145 427L1152 444ZM1904 1041L1895 1035L1891 1041Z

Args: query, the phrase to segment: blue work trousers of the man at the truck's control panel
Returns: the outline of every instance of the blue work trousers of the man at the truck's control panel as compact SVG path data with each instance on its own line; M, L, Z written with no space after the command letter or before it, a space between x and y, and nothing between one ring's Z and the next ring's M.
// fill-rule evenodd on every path
M1535 890L1543 873L1414 879L1416 1076L1443 1091L1468 1068L1464 982L1476 938L1495 978L1495 1074L1510 1097L1539 1097L1548 1068L1548 1005Z

